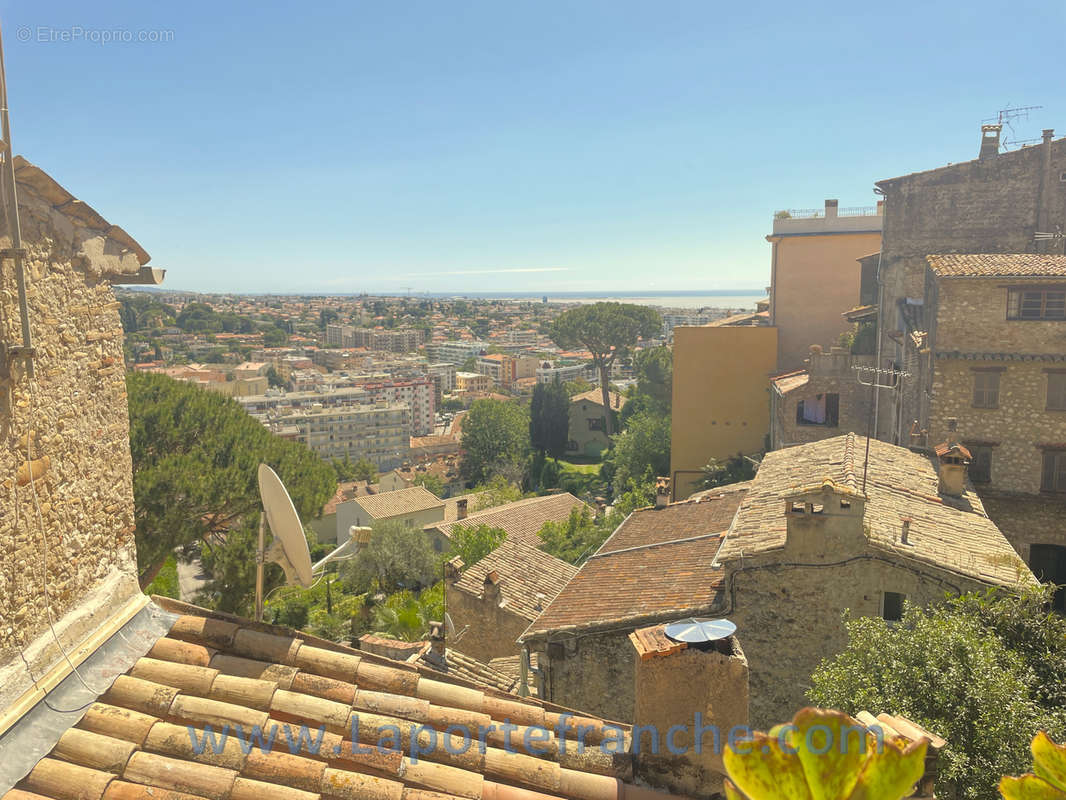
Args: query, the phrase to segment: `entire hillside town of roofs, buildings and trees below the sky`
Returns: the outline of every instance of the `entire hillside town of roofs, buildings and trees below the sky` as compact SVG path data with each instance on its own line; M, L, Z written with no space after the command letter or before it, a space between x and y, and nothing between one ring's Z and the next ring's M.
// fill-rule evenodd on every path
M1066 138L750 302L223 293L6 95L0 800L1066 797Z

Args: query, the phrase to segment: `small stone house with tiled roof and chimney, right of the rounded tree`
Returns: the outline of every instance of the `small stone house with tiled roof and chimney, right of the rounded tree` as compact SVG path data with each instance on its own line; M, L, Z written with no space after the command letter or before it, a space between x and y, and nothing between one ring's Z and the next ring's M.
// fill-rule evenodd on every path
M452 647L480 661L518 654L516 641L578 567L510 537L483 559L446 567Z

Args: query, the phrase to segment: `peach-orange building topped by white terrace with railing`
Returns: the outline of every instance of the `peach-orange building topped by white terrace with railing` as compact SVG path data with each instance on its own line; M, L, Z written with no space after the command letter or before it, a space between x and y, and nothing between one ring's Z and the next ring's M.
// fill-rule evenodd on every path
M770 324L777 329L777 369L803 367L811 345L837 345L850 325L861 273L857 259L881 249L882 206L778 211L770 267Z

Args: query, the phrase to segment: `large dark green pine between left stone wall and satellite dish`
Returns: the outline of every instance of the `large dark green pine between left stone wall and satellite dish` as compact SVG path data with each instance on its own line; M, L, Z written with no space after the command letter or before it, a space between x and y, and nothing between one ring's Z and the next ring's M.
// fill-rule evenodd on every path
M235 401L165 375L126 379L133 457L138 567L145 586L178 547L204 543L255 562L260 463L285 481L296 511L317 517L336 486L329 465L306 445L273 435ZM242 607L254 569L227 567L220 603ZM271 573L272 579L280 579ZM220 575L215 576L221 577Z

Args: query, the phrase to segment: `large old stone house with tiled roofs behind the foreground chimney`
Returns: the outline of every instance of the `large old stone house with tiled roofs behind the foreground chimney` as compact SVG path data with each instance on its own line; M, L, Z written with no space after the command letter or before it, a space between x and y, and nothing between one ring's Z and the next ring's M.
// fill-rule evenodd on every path
M965 477L933 454L845 434L766 454L732 493L634 512L522 635L542 697L632 720L627 637L651 622L738 625L757 726L805 704L845 643L844 609L898 620L905 601L1035 578ZM958 496L952 494L962 489Z

